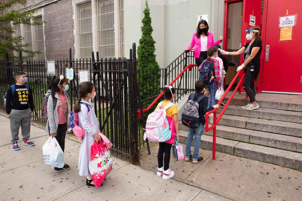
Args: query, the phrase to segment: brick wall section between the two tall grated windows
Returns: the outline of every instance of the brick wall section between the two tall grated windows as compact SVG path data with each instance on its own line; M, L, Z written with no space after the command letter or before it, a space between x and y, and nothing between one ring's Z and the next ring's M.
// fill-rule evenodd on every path
M46 59L69 58L69 48L74 49L74 20L72 0L62 0L43 7Z

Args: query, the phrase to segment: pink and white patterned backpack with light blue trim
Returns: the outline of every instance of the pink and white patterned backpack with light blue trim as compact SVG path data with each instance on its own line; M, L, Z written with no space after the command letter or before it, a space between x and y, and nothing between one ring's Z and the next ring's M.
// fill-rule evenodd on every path
M169 103L165 107L162 107L162 102L159 103L159 109L149 114L146 122L146 129L144 133L144 140L148 138L150 142L165 142L171 138L171 130L173 121L169 125L166 110L169 107L175 105Z

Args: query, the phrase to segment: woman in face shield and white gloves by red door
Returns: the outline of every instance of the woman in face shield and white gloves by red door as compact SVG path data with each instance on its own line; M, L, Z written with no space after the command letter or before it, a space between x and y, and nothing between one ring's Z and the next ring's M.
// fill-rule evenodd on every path
M256 102L256 90L255 90L255 80L258 79L260 72L260 54L262 50L262 39L259 35L260 27L252 26L246 30L246 40L251 40L249 43L246 43L241 49L236 52L226 52L220 50L221 54L226 55L240 55L244 54L244 62L237 68L237 72L244 68L246 73L243 81L243 89L246 91L246 94L249 96L250 103L246 106L242 106L246 110L254 110L259 107L259 104Z

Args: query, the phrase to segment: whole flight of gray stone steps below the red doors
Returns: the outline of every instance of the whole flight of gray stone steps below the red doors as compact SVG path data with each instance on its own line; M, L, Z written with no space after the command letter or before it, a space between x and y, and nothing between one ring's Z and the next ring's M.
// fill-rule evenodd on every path
M244 97L236 94L220 119L216 151L302 171L302 96L257 94L257 110L242 109ZM178 125L185 143L188 127ZM202 149L212 150L212 136L204 131Z

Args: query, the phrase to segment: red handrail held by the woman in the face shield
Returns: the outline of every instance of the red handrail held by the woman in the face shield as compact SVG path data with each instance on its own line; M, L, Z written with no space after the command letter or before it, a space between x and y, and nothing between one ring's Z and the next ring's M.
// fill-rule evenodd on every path
M242 71L242 70L240 70ZM223 96L220 98L220 100L218 101L218 105L221 104L221 102L223 101L223 99L226 97L226 94L230 91L232 85L234 84L235 80L237 79L237 77L239 76L240 74L240 71L237 72L237 74L235 75L235 77L233 78L233 80L231 81L229 87L226 89L226 91L224 92ZM237 84L235 90L233 91L233 93L231 94L229 100L226 102L226 105L223 107L222 111L220 112L218 118L216 119L217 117L217 108L214 108L214 110L211 110L209 112L206 113L206 116L205 116L205 121L206 121L206 124L205 124L205 130L206 132L209 132L210 130L213 129L213 154L212 154L212 158L213 160L215 160L216 158L216 126L218 124L218 122L220 121L224 111L226 110L226 108L228 107L228 105L230 104L230 102L232 101L232 98L234 97L234 95L236 94L239 86L241 85L241 83L243 82L244 80L244 77L245 77L245 74L243 74L242 78L240 79L239 83ZM214 113L214 121L213 121L213 126L210 126L209 128L209 114L212 114Z

